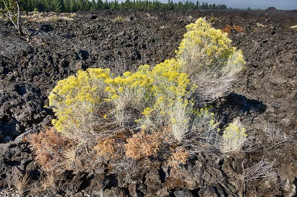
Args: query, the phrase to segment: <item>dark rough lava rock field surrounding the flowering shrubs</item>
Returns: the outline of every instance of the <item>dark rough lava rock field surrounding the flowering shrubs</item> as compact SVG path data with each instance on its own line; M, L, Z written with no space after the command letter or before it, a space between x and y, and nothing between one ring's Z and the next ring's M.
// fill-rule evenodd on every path
M88 171L64 170L53 189L34 196L237 197L243 159L251 165L261 158L276 159L278 177L248 186L246 196L290 196L297 176L297 141L292 134L297 131L297 30L290 27L297 24L297 15L271 11L265 22L265 13L99 11L43 19L34 15L24 18L26 37L17 36L13 27L0 19L0 188L12 187L20 171L38 179L40 170L22 138L50 124L53 113L44 106L58 80L90 67L111 67L119 73L174 57L185 26L206 16L218 29L227 25L246 29L246 33L231 31L230 38L243 50L247 68L234 84L233 93L214 106L225 122L240 117L257 149L240 158L197 161L178 172L160 164L145 170L134 182L108 173L102 166ZM113 68L118 62L123 66ZM263 132L267 124L282 128L288 141L272 144Z

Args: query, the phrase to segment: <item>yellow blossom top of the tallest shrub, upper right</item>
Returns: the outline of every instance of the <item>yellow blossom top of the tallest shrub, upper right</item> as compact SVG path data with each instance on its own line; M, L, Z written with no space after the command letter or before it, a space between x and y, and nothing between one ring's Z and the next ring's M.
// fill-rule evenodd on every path
M200 61L203 64L221 64L226 63L229 58L235 55L235 61L244 64L242 52L236 51L236 48L231 46L228 34L212 28L211 24L202 18L187 25L187 30L188 32L184 35L184 39L176 51L178 59L184 59L185 54L190 54L190 58L199 58L200 60L204 58L204 61ZM202 66L205 65L201 64L200 67Z

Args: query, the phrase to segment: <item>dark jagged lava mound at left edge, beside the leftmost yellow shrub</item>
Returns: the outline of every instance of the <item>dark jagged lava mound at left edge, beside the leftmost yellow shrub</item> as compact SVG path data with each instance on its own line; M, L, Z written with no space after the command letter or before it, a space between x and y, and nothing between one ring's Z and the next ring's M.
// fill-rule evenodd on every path
M0 89L0 141L7 143L46 116L44 97L29 83L3 84Z

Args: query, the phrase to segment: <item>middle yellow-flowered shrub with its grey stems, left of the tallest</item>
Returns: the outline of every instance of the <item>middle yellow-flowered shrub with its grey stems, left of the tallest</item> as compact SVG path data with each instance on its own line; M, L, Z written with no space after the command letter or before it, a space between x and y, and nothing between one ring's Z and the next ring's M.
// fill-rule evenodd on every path
M175 108L176 105L183 108L188 105L185 96L190 84L188 76L179 70L178 62L171 59L156 65L152 70L149 65L144 65L134 74L126 72L123 76L105 80L109 84L105 90L114 104L117 122L137 122L148 130L169 124L177 125L179 122L176 122Z

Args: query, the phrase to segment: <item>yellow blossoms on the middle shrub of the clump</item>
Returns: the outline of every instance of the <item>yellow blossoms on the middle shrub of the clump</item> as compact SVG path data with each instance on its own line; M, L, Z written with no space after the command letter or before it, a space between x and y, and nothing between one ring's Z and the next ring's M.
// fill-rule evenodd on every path
M168 117L170 107L175 102L184 102L188 104L187 99L183 97L187 93L187 87L190 79L185 73L180 72L180 65L175 59L165 60L163 63L156 65L150 70L149 65L143 65L138 68L136 73L126 72L123 76L106 79L109 85L105 91L109 93L109 101L115 105L123 105L122 100L127 104L137 102L145 104L142 109L144 119L137 119L141 122L142 128L146 128L144 122L151 122L156 116L162 118ZM129 96L133 96L130 98ZM132 100L131 102L128 102ZM135 106L132 106L135 107ZM123 109L123 106L115 106L116 109ZM120 112L121 113L121 112ZM160 119L160 118L158 118ZM164 121L161 121L164 122Z

